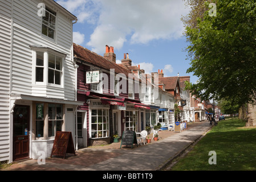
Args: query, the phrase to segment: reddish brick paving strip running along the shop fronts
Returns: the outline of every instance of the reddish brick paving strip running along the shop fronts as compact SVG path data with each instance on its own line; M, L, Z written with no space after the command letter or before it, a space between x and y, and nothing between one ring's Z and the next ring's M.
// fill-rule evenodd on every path
M188 129L192 129L200 125L201 122L192 122L188 123ZM175 135L173 131L159 131L160 140ZM152 134L149 134L149 137L152 138ZM67 170L83 170L87 167L90 167L94 164L103 162L105 160L116 158L121 154L125 154L128 151L136 151L141 149L141 147L149 147L158 141L151 140L151 143L145 145L133 146L121 146L119 143L111 143L105 146L93 146L82 148L76 151L76 156L74 154L67 154L66 158L54 157L47 158L45 165L39 165L37 160L26 160L25 162L15 162L10 167L1 169L1 171L67 171Z

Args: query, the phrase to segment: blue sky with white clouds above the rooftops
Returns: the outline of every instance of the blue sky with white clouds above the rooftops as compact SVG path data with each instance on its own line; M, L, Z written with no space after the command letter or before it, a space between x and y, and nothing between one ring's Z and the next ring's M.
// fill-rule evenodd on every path
M180 20L189 9L183 0L56 0L78 17L74 42L103 56L113 46L117 63L129 53L133 65L146 73L163 70L164 76L190 76Z

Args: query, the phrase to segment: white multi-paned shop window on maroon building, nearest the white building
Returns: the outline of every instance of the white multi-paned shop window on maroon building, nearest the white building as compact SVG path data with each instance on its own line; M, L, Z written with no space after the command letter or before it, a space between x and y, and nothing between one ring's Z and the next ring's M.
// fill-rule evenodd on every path
M92 109L91 138L109 137L109 110Z

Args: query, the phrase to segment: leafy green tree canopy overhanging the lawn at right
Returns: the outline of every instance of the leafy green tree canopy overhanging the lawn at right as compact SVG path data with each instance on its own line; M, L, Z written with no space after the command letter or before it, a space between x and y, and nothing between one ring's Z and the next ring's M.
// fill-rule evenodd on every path
M199 78L188 85L192 94L203 100L229 98L238 105L253 102L256 90L256 2L217 0L216 16L209 15L209 2L184 21L190 43L188 73ZM204 3L202 3L204 2ZM206 9L206 11L204 11ZM200 16L198 11L204 11ZM193 19L192 19L193 17Z

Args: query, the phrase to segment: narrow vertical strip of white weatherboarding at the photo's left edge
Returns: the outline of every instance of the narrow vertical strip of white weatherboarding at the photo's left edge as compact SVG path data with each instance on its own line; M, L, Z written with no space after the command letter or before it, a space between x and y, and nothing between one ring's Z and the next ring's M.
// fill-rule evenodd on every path
M11 2L0 0L0 161L9 159L10 151L10 59Z

